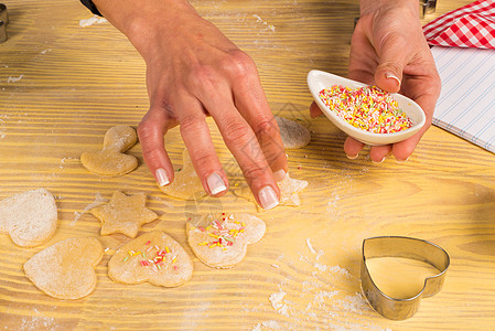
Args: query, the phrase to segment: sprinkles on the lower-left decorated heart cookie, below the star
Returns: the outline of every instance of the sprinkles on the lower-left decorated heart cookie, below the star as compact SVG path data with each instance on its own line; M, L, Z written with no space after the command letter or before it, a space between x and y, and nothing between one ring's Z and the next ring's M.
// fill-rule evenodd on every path
M146 244L148 247L143 247L142 252L128 250L123 258L123 261L127 261L129 257L137 257L136 260L141 267L150 267L154 270L161 270L162 268L170 265L174 270L179 270L176 266L177 256L173 253L169 246L165 246L163 249L158 245L151 245L151 242L148 241ZM149 256L147 257L147 253Z

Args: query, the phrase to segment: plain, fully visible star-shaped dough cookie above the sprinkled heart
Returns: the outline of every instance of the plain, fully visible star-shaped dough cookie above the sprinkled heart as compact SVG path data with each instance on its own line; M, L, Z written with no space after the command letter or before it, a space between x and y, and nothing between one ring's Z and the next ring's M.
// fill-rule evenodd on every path
M92 214L101 221L101 235L121 233L134 238L139 227L158 218L158 215L147 209L144 193L126 195L115 191L108 204L92 209Z

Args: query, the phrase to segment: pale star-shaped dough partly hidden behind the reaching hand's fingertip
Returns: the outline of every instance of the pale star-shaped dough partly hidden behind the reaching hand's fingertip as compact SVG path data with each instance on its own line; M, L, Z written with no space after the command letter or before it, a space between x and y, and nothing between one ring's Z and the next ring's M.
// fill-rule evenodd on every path
M286 178L280 182L277 182L277 184L280 188L280 205L290 205L290 206L301 205L299 192L301 192L308 186L306 181L300 181L290 178L289 173L287 173ZM256 202L256 199L252 195L250 188L246 183L235 186L233 191L236 195L240 197Z

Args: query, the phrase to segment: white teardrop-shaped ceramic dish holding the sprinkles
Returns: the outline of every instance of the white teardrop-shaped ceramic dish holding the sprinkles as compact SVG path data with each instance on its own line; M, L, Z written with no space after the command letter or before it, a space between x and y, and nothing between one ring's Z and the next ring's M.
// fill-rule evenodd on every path
M395 100L397 100L397 103L399 104L399 108L405 111L406 115L411 119L412 126L410 128L394 134L375 134L353 127L346 120L340 118L336 113L331 110L320 98L320 92L324 88L332 87L333 85L342 85L351 88L359 88L367 85L322 71L311 71L308 74L308 86L311 94L313 95L314 100L316 102L316 105L320 107L323 114L337 128L363 143L369 146L379 146L399 142L418 132L427 120L424 111L417 103L401 94L392 93L390 95Z

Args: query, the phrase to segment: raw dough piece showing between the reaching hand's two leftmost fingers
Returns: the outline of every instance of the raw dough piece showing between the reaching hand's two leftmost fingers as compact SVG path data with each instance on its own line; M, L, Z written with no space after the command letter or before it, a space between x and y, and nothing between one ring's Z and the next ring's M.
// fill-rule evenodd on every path
M163 193L177 199L201 199L207 193L194 170L187 149L182 152L182 169L175 172L174 181L166 186L159 186Z

